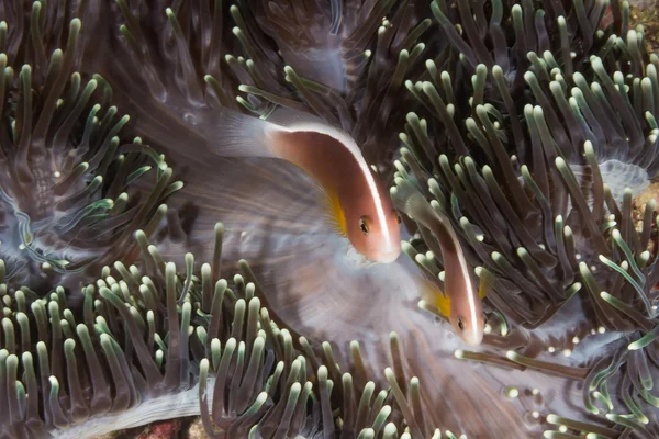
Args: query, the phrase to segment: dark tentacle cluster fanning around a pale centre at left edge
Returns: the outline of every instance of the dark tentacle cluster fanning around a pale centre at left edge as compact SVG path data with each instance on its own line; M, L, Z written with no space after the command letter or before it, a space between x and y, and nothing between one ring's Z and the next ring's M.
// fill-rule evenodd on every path
M104 79L75 70L83 11L37 1L23 20L22 9L0 8L0 257L10 291L41 295L130 258L132 234L153 234L181 184L139 137L121 140L129 116Z

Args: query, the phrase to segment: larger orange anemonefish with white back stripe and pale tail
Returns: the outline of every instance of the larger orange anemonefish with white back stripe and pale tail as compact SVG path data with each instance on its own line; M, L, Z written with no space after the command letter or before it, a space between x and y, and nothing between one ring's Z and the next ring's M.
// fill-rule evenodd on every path
M266 120L222 109L211 149L223 157L287 160L319 184L337 232L375 262L401 252L400 217L355 140L310 114L279 108Z

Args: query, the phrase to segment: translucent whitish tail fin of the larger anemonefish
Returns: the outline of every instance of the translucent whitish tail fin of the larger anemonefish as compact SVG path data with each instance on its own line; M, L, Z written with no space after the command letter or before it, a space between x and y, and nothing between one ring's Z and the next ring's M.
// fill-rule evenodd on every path
M205 122L204 135L209 148L221 157L276 157L268 133L277 130L270 122L222 109Z

